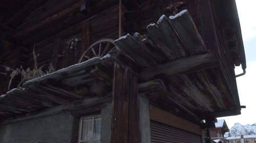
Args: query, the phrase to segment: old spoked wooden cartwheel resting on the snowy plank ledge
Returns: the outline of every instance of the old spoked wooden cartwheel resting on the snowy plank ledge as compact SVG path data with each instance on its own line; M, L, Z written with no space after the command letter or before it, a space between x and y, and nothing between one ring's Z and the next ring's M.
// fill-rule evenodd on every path
M94 42L92 45L89 46L89 48L86 51L82 53L78 63L87 61L94 57L101 58L115 49L118 49L118 47L114 44L113 39L101 39L99 41Z

